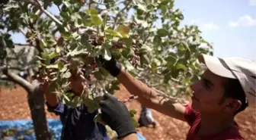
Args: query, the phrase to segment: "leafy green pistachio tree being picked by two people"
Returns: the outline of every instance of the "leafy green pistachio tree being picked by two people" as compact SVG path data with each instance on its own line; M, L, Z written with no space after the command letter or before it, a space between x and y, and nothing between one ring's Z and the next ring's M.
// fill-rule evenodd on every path
M200 73L197 56L213 54L198 26L181 26L184 15L174 8L174 0L8 0L1 7L0 57L5 79L35 96L30 94L36 89L32 80L41 78L50 83L51 92L72 107L85 104L89 110L98 109L102 91L114 93L119 89L118 80L104 70L99 56L115 58L136 78L145 79L155 89L165 89L162 95L168 98L186 95L187 86ZM51 7L59 14L50 13ZM14 44L11 33L24 34L26 46L33 48L30 61L23 57L26 63L19 64L24 52L17 51L21 45ZM9 55L17 59L10 60ZM31 79L11 69L17 66L27 70ZM92 86L85 87L82 97L72 98L67 92L69 77L77 69ZM43 102L40 105L42 109ZM31 102L36 122L33 108ZM45 116L43 110L40 113ZM41 130L34 127L37 138L42 138Z

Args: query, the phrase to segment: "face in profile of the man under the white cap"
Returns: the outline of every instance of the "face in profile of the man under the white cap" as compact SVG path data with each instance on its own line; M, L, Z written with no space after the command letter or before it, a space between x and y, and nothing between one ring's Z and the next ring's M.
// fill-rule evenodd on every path
M190 86L194 91L192 107L206 114L219 114L224 108L222 101L224 88L223 78L206 70L201 79Z

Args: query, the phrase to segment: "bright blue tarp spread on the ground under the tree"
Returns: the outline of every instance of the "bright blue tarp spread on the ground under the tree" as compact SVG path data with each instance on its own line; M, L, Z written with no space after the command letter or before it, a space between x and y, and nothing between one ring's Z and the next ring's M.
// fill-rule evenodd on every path
M53 139L59 140L62 123L60 120L49 119L47 120L50 132L53 134ZM34 140L35 135L33 132L32 120L0 120L0 138L2 138L2 131L7 129L18 129L17 135L8 137L7 140L18 140L21 135L24 140ZM32 132L30 132L32 130ZM139 140L146 140L141 134L137 134Z

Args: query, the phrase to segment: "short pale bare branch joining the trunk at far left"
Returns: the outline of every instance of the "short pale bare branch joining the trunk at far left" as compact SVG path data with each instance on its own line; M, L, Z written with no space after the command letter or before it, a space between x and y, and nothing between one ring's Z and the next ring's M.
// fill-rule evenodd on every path
M7 76L8 80L22 86L24 89L26 89L28 93L32 92L33 86L32 84L30 84L30 82L27 82L26 79L21 78L21 76L18 76L15 73L11 73L10 70L8 70L8 68L4 68L2 72Z

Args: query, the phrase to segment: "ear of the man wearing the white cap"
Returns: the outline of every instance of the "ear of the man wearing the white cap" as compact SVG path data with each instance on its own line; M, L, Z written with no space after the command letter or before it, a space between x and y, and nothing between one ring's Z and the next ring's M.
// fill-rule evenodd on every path
M241 101L237 99L227 98L225 112L233 114L235 111L239 110L241 106Z

